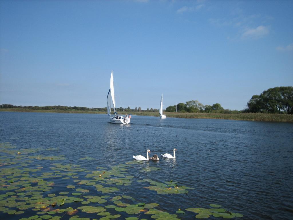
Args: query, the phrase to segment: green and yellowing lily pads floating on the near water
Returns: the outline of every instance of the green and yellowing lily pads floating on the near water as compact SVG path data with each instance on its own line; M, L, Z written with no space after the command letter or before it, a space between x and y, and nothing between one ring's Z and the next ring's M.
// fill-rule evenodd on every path
M48 156L47 151L52 155ZM59 152L58 148L16 149L10 144L0 144L1 218L178 220L184 219L187 214L180 209L168 213L157 203L137 201L124 194L124 189L134 182L157 194L187 194L188 190L194 189L173 180L158 182L151 179L137 179L129 175L130 168L137 169L139 173L160 172L159 167L145 166L141 161L131 161L108 169L96 167L91 171L81 165L66 163L65 156L58 155ZM93 158L86 157L79 160L93 160ZM210 207L185 210L196 213L196 218L242 217L241 214L228 212L217 204L210 204Z

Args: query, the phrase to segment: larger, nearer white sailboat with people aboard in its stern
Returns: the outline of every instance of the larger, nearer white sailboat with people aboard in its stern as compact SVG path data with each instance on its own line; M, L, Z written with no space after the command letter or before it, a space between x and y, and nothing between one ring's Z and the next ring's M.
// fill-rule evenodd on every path
M111 115L111 107L113 104L113 109L114 109L114 114ZM110 116L110 122L113 124L129 124L130 123L130 118L132 114L126 114L125 117L118 115L116 112L116 107L115 107L115 95L114 95L114 81L113 81L113 70L111 72L111 77L110 77L110 89L107 95L107 111L108 115Z

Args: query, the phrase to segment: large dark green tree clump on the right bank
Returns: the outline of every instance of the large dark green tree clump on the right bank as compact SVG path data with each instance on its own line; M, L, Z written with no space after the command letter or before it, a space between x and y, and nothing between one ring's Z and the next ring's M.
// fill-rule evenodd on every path
M247 102L246 112L293 114L293 87L274 87L253 95Z

